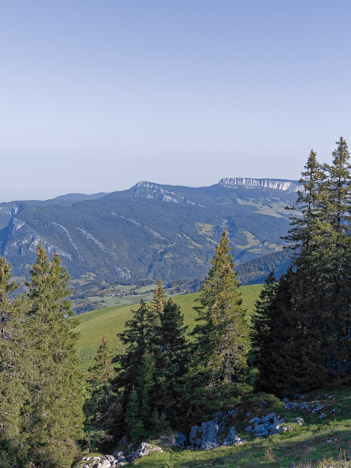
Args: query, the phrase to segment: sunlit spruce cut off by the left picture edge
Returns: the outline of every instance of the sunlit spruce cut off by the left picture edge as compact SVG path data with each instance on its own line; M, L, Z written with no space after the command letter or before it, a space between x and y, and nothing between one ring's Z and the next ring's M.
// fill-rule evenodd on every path
M28 304L11 300L17 288L11 266L0 258L0 466L24 466L28 462L24 432L30 394L31 354L27 333Z

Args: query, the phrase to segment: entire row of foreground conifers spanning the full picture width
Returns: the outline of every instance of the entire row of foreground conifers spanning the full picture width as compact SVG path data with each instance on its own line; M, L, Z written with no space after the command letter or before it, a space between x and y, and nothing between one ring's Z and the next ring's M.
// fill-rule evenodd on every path
M0 259L0 467L71 466L80 448L187 431L253 389L279 396L351 383L351 166L346 142L332 163L314 151L286 238L287 272L272 272L251 332L223 232L199 290L196 325L158 279L119 335L103 338L87 378L78 371L68 275L42 244L15 294ZM250 365L248 364L250 363Z

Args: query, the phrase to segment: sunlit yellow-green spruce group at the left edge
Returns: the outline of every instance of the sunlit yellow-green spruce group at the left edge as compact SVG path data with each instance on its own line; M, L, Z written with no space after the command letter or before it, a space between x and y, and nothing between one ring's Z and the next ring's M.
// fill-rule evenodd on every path
M0 466L70 466L84 414L68 275L43 247L26 283L0 259Z

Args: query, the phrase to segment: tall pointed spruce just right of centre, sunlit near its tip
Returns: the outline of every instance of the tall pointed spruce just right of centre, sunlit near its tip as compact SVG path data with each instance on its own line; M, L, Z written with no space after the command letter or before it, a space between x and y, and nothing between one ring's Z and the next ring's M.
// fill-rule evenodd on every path
M225 230L211 265L200 288L201 305L196 307L198 324L193 331L195 375L201 381L197 389L210 410L233 405L245 390L249 341L239 281ZM192 400L198 397L193 395Z

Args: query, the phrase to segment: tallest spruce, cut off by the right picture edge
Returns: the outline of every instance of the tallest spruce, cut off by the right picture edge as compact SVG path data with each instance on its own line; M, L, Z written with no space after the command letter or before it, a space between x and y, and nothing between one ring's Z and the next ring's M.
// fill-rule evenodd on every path
M351 381L351 166L346 141L341 137L326 164L325 224L319 277L323 283L319 314L325 344L322 363L335 385Z

